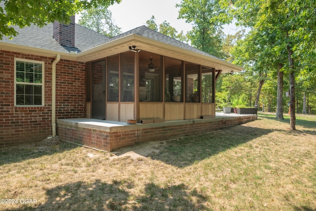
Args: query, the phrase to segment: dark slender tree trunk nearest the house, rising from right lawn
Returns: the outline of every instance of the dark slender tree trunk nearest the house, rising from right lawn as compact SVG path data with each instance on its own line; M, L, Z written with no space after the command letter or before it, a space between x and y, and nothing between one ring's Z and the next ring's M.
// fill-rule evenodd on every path
M289 70L290 70L290 128L295 130L295 76L294 76L294 59L293 49L288 44L287 45L287 52L288 52L288 63L289 63Z

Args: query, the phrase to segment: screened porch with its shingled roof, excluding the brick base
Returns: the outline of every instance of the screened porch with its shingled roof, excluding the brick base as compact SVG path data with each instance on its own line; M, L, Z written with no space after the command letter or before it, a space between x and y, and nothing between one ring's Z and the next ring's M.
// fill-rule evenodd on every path
M144 26L78 56L86 117L116 122L213 118L216 79L242 70Z

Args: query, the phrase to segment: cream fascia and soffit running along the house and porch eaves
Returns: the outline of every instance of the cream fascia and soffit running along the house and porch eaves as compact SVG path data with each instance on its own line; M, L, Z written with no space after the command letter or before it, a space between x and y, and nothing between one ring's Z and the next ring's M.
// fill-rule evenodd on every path
M73 53L73 52L60 52L55 50L48 50L48 49L42 49L38 47L30 47L25 45L19 45L19 44L12 44L12 43L6 43L6 42L0 42L0 49L12 51L12 52L21 52L25 54L34 54L34 55L40 55L40 56L47 56L47 57L55 57L56 54L60 54L61 59L67 59L72 61L81 61L81 62L87 62L89 60L89 55L91 54L97 54L98 52L112 50L116 47L121 47L120 52L128 51L128 45L131 43L137 43L137 47L140 47L139 45L142 45L140 47L141 50L146 50L153 53L158 53L161 55L166 55L170 52L170 57L175 57L177 59L182 59L185 61L190 61L193 63L198 63L201 65L208 64L214 64L210 67L216 68L217 70L223 70L223 73L229 73L231 71L234 72L240 72L244 70L244 68L237 66L235 64L226 62L224 60L214 58L211 56L203 55L191 50L187 50L178 46L174 46L171 44L167 44L165 42L156 41L150 38L146 38L140 35L136 34L130 34L125 37L113 40L111 42L107 42L101 45L98 45L96 47L90 48L88 50L79 52L79 53ZM126 47L122 47L124 44L126 44ZM100 58L102 58L102 54L99 55ZM103 56L104 57L104 56Z

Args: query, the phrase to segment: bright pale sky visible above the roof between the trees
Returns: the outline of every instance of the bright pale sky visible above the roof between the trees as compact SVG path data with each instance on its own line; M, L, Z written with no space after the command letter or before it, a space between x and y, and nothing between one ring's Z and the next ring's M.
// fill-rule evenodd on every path
M112 12L114 24L121 28L122 33L146 25L146 21L154 15L157 25L167 21L178 33L183 31L186 34L192 29L192 25L186 23L184 19L178 19L180 8L175 5L180 2L181 0L122 0L108 9ZM79 16L76 17L77 22L78 19ZM234 29L236 29L234 24L226 26L224 33L235 34Z

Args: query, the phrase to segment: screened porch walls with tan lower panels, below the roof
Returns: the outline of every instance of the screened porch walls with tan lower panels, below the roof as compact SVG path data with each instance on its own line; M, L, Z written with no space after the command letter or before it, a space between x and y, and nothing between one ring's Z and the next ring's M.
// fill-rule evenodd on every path
M148 51L88 64L87 117L154 123L215 116L214 68Z

